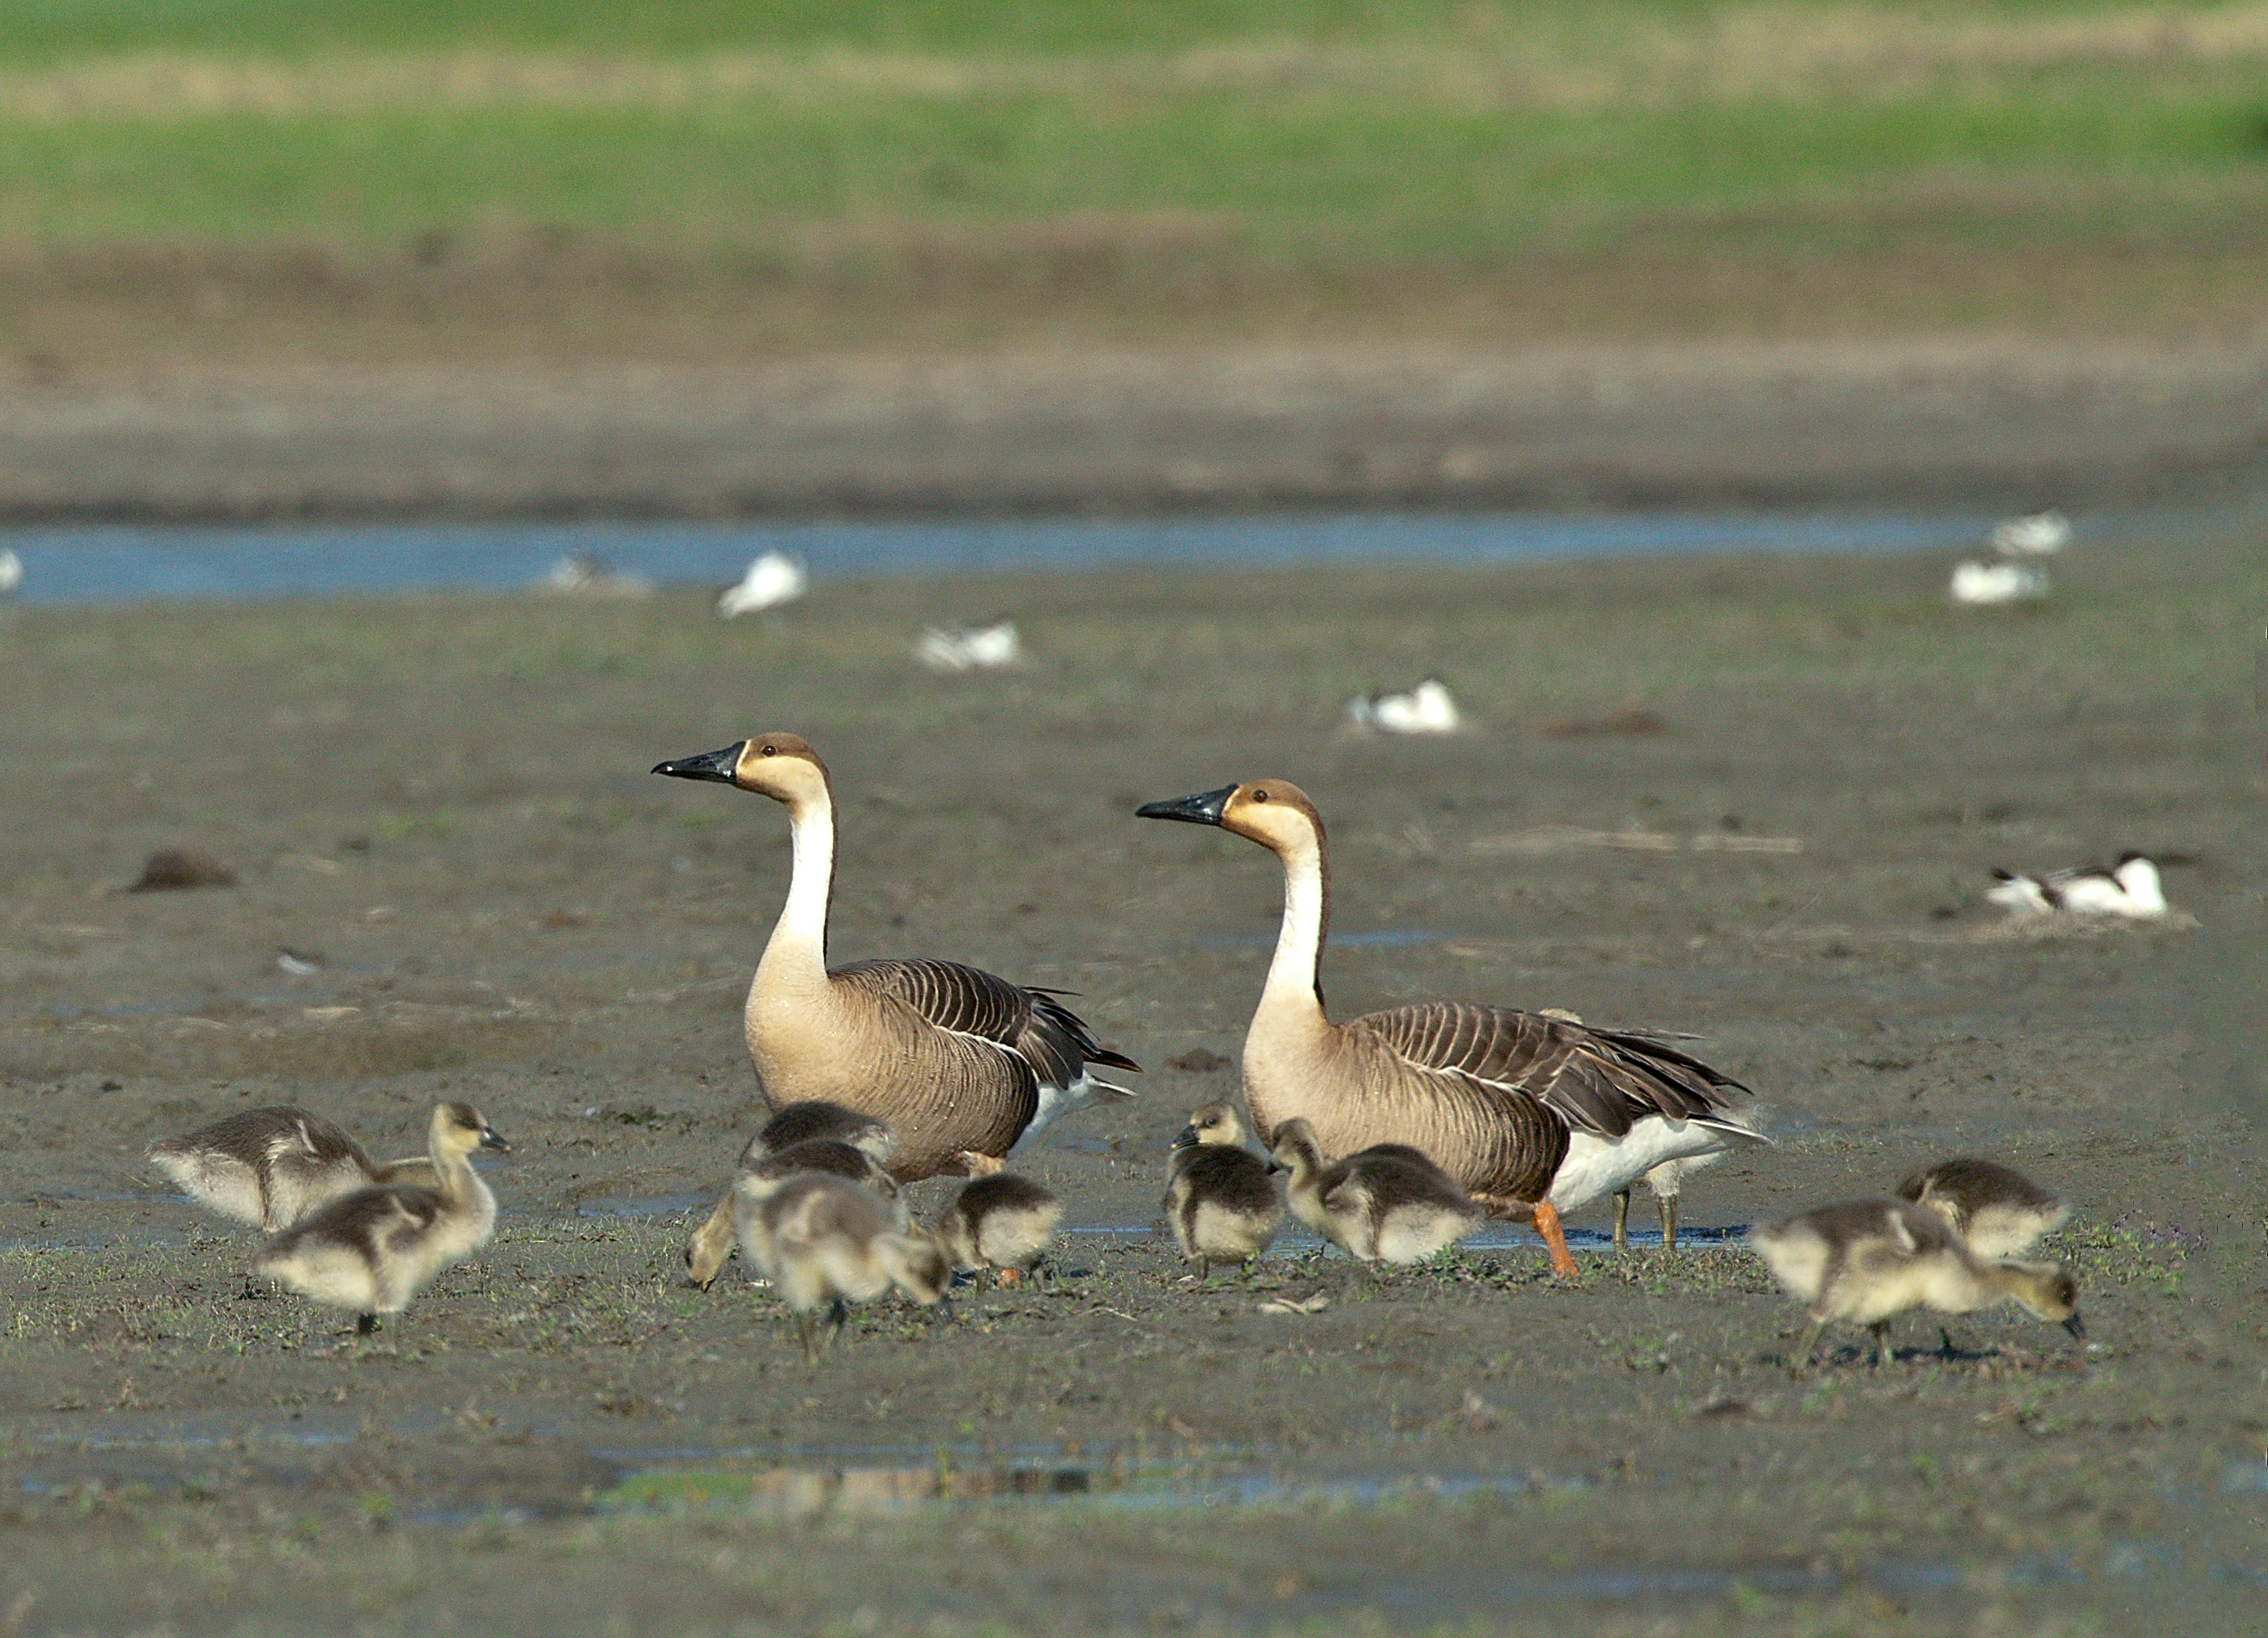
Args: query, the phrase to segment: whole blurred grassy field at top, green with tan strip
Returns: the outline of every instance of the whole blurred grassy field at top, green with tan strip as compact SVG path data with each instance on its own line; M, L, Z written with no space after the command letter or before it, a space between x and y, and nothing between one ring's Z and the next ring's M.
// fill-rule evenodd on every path
M2134 39L2098 5L34 0L0 23L0 236L662 234L891 288L939 254L1059 263L1048 222L1100 284L1631 227L2250 243L2268 48Z

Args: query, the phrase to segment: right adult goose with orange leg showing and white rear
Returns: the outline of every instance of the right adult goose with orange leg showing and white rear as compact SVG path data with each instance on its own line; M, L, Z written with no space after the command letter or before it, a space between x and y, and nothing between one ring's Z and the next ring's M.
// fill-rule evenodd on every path
M1667 1159L1769 1141L1730 1114L1746 1087L1651 1035L1454 1000L1331 1023L1318 973L1331 871L1297 785L1227 785L1139 814L1220 826L1284 860L1284 928L1245 1032L1261 1132L1302 1118L1325 1155L1411 1143L1495 1216L1533 1221L1560 1275L1576 1273L1560 1211Z

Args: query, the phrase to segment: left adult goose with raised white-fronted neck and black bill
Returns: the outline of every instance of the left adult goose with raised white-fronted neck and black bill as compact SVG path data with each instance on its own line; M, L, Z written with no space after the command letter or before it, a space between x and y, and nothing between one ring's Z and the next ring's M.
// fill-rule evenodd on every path
M660 762L787 808L787 903L748 985L748 1057L773 1109L823 1098L889 1121L900 1182L982 1168L1095 1094L1129 1098L1091 1066L1141 1066L1098 1046L1055 991L957 962L878 960L828 969L835 787L792 733Z

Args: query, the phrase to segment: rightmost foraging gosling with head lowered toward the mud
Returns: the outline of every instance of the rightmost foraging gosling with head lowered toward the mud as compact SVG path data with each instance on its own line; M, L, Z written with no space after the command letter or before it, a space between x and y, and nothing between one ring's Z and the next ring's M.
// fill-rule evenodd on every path
M1799 1368L1812 1361L1828 1320L1864 1325L1873 1334L1876 1363L1887 1366L1889 1320L1907 1309L1973 1314L2014 1300L2087 1336L2080 1286L2068 1268L1980 1259L1941 1216L1905 1200L1823 1205L1751 1230L1749 1246L1789 1295L1808 1305L1812 1329L1796 1354Z

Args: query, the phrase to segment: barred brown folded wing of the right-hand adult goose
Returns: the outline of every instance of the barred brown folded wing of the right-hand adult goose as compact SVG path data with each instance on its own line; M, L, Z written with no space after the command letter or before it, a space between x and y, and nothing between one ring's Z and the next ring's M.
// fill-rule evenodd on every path
M1422 1003L1354 1019L1406 1064L1529 1096L1572 1130L1624 1137L1635 1121L1708 1118L1749 1096L1730 1075L1651 1035L1592 1030L1513 1007Z

